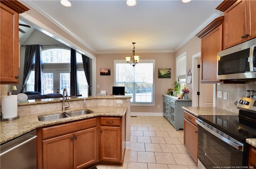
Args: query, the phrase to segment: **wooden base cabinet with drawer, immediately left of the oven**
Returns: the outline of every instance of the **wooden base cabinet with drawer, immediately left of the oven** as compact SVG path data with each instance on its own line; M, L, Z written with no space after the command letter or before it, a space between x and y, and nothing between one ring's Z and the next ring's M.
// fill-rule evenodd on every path
M184 111L184 146L192 159L197 163L198 157L198 125L197 117Z

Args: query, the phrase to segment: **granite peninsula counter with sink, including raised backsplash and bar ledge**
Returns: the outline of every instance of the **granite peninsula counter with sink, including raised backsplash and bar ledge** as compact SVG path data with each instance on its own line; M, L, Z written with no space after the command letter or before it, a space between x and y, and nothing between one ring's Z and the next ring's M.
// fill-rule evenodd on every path
M57 120L50 121L39 121L38 117L50 114L62 113L61 105L62 99L42 99L42 100L31 100L26 103L18 103L18 115L19 119L13 121L1 121L0 122L0 143L6 143L20 135L28 133L38 127L55 125L70 121L76 121L81 119L86 119L90 117L97 116L116 116L122 117L126 115L129 100L131 97L126 96L94 96L94 97L76 97L70 99L70 109L66 109L66 112L79 111L79 110L89 110L92 111L90 114L78 115L73 117L66 117ZM102 100L99 100L102 99ZM123 104L117 104L116 99L122 99ZM130 101L129 101L130 102ZM45 104L46 103L46 104ZM65 102L68 103L67 101ZM73 103L73 104L72 104ZM56 106L57 104L57 106ZM49 107L50 105L50 107ZM21 109L22 113L19 112L19 107L33 106L33 110L26 108ZM39 106L39 107L38 107ZM42 106L45 107L42 109ZM38 107L38 108L37 108ZM50 109L50 111L49 111ZM130 109L130 108L129 108ZM24 114L24 111L27 113ZM38 111L42 111L38 113ZM36 113L35 113L36 112Z

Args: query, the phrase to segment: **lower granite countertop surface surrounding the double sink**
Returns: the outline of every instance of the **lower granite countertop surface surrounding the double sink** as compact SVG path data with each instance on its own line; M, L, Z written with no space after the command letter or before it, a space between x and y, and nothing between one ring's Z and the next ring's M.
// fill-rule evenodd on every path
M43 115L50 115L50 114L58 114L61 111L53 111L53 112L45 112L45 113L35 113L30 115L20 115L19 119L13 121L1 121L0 128L1 128L1 137L0 143L5 143L10 141L20 135L28 133L38 127L43 127L47 125L54 125L59 123L64 123L68 121L74 121L79 119L86 119L90 117L96 116L120 116L122 117L126 113L126 106L90 106L86 108L87 110L92 111L93 113L86 114L86 115L78 115L74 117L66 117L57 120L51 121L39 121L38 117ZM78 111L84 109L67 109L67 113L71 111Z

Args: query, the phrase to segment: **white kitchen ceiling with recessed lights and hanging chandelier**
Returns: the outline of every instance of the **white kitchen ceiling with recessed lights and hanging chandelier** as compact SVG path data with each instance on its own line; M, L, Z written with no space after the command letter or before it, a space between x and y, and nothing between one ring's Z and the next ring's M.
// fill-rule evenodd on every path
M175 52L222 12L222 0L59 0L24 1L95 54ZM31 9L31 8L30 8ZM29 11L28 11L29 12ZM55 30L58 32L58 30Z

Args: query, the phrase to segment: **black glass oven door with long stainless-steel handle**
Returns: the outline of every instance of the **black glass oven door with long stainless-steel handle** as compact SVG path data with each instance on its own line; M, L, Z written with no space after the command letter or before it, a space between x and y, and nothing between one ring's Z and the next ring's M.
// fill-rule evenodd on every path
M247 166L246 144L230 139L230 136L226 139L225 134L200 119L196 122L198 159L206 169Z

